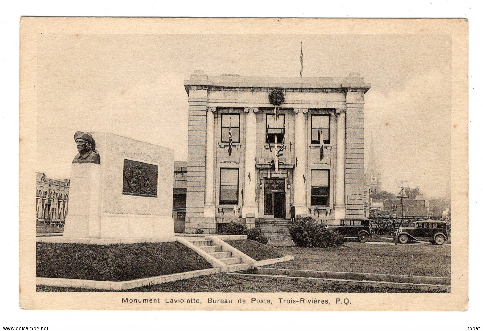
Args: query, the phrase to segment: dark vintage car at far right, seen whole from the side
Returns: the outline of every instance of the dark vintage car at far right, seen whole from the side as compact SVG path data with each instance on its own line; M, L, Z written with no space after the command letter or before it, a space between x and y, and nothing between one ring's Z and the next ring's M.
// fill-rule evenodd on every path
M409 241L429 241L436 245L442 245L448 240L445 221L421 220L412 224L412 227L400 227L396 231L395 240L401 244Z

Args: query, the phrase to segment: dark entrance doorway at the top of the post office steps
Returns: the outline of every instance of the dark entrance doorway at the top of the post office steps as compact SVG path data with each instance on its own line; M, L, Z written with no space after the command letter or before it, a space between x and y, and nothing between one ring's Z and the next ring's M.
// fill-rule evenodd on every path
M285 179L265 179L265 216L285 218Z

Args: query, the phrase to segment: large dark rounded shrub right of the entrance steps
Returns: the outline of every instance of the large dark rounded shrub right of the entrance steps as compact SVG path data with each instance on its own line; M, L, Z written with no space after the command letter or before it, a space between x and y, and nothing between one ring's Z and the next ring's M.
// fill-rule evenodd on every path
M325 224L317 224L312 217L301 217L288 223L288 231L299 247L339 247L343 245L341 234L328 230Z

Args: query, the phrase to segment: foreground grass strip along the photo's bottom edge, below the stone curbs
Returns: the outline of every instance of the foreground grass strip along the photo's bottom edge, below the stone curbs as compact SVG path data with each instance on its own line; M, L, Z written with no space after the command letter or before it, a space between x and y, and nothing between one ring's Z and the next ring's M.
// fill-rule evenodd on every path
M38 285L37 291L44 292L107 292L106 290L67 289ZM303 282L297 279L251 277L243 275L217 274L177 280L170 283L145 286L127 292L308 292L308 293L423 293L420 290L374 289L363 285ZM426 293L426 292L425 292Z

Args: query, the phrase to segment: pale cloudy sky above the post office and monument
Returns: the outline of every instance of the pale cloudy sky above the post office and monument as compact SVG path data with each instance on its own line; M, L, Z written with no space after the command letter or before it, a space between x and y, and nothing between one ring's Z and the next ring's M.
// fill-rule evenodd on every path
M449 35L42 35L38 44L37 171L69 178L75 131L106 131L187 158L187 94L208 75L304 77L359 72L383 190L397 181L444 196L451 178Z

